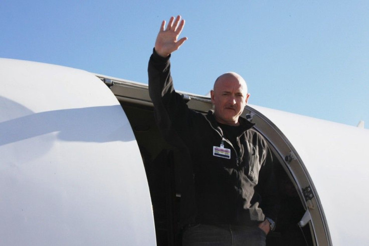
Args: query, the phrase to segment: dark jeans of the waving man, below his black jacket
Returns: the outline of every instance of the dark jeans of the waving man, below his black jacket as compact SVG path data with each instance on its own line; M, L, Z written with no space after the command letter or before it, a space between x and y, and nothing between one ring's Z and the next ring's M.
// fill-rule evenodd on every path
M265 246L265 240L257 226L197 224L183 232L182 246Z

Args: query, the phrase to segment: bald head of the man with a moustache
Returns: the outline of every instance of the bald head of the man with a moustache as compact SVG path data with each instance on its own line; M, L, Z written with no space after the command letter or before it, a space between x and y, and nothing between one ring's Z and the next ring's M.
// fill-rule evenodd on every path
M211 91L215 118L219 123L238 125L238 118L247 104L250 94L247 94L246 82L238 76L222 75Z

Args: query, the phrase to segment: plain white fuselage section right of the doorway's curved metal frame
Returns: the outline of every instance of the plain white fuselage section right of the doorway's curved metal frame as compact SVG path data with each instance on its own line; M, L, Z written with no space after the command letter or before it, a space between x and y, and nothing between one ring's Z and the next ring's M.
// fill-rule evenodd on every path
M321 201L333 245L369 243L369 130L255 108L291 142Z

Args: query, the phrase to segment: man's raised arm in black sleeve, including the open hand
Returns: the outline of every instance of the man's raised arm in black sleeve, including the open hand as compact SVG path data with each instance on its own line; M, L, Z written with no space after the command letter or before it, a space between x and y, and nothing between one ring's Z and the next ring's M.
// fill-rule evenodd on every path
M166 29L165 21L161 23L147 69L149 95L154 105L156 124L164 138L173 145L178 143L176 131L184 133L183 128L188 126L189 120L186 103L174 91L169 62L170 54L187 40L182 38L177 41L183 25L185 21L180 21L180 16L175 21L171 17Z

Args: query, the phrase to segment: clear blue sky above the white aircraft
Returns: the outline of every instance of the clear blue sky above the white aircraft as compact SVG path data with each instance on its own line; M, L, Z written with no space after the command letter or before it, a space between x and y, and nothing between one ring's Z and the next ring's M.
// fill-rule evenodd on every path
M177 90L205 95L222 73L249 103L369 125L369 1L0 2L0 57L147 83L162 20L189 40L172 55Z

